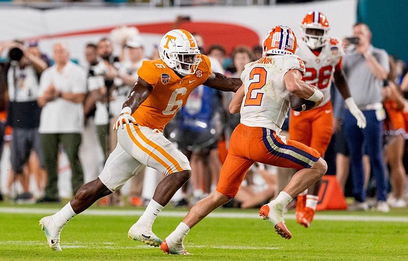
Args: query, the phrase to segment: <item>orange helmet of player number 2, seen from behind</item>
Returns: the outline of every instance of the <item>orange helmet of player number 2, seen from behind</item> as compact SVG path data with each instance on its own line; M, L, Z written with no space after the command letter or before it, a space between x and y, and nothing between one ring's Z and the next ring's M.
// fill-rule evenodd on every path
M296 47L296 36L292 29L287 26L275 26L264 37L262 55L292 55Z

